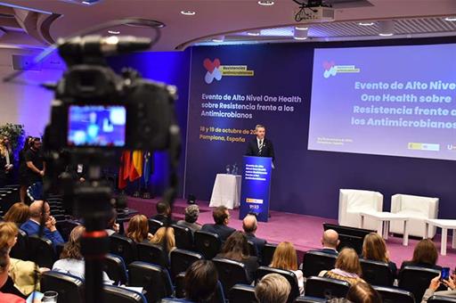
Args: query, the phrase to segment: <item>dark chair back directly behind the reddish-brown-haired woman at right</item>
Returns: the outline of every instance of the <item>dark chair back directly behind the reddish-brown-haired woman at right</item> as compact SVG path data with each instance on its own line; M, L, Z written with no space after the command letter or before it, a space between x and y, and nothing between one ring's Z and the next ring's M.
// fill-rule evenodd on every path
M415 300L420 302L430 281L440 274L439 270L419 266L404 266L399 273L399 288L411 291Z

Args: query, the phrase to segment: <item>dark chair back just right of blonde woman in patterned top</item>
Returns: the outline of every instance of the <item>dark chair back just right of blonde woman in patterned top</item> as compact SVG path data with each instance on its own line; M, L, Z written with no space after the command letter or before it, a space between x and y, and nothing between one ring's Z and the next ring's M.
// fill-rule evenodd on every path
M362 279L378 286L393 286L395 277L387 263L360 259L362 268Z

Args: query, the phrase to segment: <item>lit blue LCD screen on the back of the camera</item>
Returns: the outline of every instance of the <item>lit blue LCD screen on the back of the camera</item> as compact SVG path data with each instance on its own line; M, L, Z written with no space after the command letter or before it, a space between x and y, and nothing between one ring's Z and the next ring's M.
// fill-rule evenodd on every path
M125 106L70 105L67 142L69 146L125 146Z

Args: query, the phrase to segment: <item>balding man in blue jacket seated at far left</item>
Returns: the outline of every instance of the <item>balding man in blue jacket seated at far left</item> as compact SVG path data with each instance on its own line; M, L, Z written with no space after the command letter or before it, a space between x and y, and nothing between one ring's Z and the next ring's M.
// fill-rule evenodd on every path
M45 203L44 208L43 203ZM51 208L47 202L41 200L34 201L30 204L30 218L20 225L20 229L26 232L28 236L36 235L39 232L41 218L44 217L44 238L51 240L55 247L55 245L63 243L63 239L61 238L61 233L55 227L55 219L50 214Z

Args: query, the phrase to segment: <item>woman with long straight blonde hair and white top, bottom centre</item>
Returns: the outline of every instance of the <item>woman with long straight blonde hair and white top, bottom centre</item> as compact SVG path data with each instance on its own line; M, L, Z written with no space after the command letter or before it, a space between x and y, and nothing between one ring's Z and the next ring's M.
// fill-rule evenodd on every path
M293 243L281 242L274 251L273 262L270 265L274 268L285 269L296 274L299 292L304 294L304 274L297 269L297 253Z

